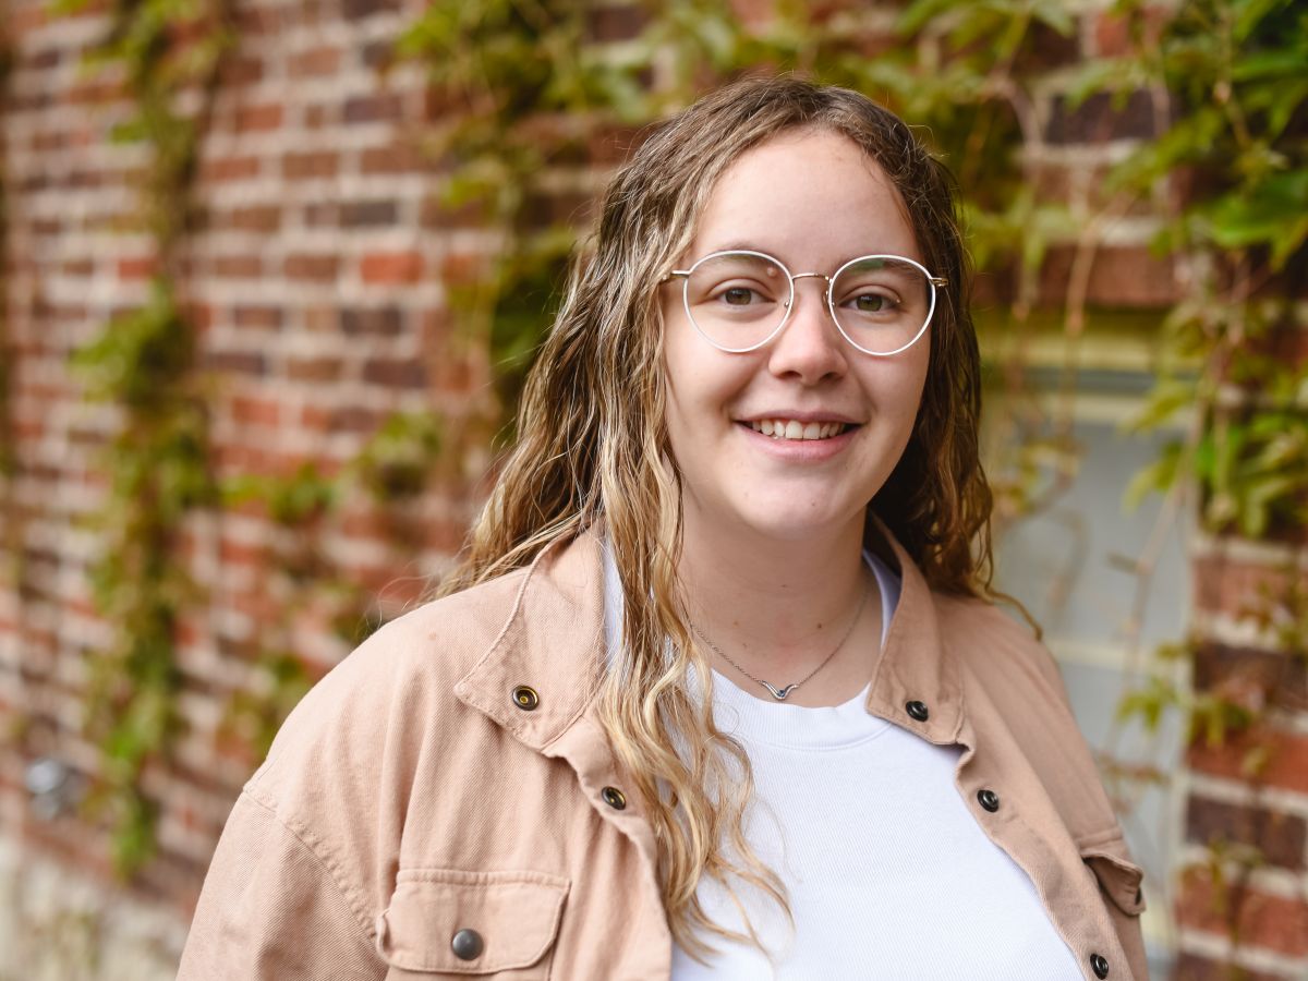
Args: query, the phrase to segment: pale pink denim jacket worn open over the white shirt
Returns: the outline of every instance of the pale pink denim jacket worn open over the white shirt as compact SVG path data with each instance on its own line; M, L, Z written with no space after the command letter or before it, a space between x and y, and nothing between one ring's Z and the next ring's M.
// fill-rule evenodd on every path
M867 710L964 747L959 794L1087 980L1146 978L1141 870L1057 666L889 548L903 593ZM602 590L593 531L331 671L232 811L181 981L668 978L654 836L595 714Z

